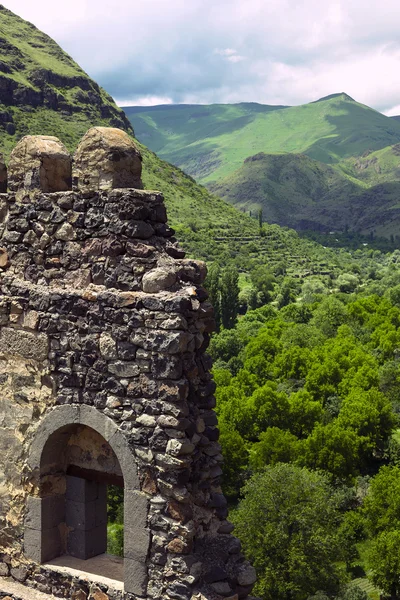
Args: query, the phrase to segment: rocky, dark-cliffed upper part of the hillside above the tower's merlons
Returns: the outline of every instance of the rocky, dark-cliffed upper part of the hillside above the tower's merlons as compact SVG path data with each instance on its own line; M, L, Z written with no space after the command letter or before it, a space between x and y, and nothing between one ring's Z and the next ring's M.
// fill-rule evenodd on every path
M92 123L132 132L111 96L56 42L2 5L0 101L1 147L6 154L27 133L59 131L72 149Z

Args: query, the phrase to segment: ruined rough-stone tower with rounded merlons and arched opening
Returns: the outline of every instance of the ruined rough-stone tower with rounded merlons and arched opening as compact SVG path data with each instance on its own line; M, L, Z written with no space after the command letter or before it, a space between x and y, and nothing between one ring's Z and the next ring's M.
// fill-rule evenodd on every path
M133 141L102 127L73 160L27 136L0 165L0 597L11 580L75 600L254 585L220 487L206 268L140 177ZM109 484L124 591L47 565L105 551Z

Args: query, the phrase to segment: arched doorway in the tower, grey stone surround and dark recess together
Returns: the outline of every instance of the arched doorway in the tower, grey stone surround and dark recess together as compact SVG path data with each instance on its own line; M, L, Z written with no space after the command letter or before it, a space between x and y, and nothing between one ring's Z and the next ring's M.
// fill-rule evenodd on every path
M148 500L138 489L135 457L116 424L93 407L56 407L41 422L28 462L36 493L27 500L27 558L48 563L59 557L86 562L103 556L107 486L123 486L121 573L125 591L143 594L150 541Z

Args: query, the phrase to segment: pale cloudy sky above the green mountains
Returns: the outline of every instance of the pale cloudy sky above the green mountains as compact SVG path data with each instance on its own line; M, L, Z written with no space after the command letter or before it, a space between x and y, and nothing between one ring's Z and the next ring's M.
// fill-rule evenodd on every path
M3 0L121 105L302 104L400 114L399 0Z

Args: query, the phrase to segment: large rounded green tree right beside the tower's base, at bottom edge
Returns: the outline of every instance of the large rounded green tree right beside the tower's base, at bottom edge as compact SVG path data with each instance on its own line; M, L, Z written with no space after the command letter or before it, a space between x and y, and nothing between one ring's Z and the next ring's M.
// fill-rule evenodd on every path
M236 532L257 570L264 600L307 600L338 591L345 575L337 530L340 497L320 473L288 464L247 482L234 514Z

